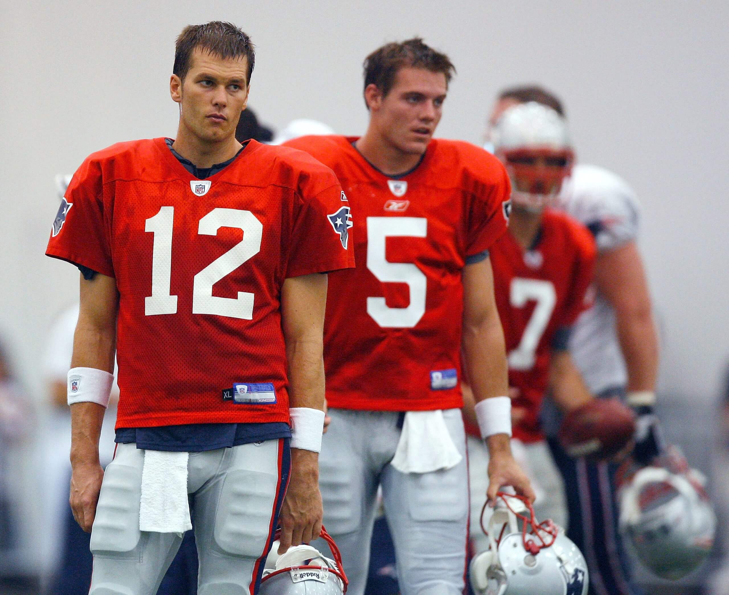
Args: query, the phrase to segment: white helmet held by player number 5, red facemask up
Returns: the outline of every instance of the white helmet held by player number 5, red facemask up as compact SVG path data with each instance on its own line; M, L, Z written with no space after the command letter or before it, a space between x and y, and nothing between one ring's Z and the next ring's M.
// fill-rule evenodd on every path
M488 531L483 528L483 511L481 528L490 547L472 559L469 569L478 595L587 594L588 567L582 553L561 527L552 521L537 523L528 500L499 492Z

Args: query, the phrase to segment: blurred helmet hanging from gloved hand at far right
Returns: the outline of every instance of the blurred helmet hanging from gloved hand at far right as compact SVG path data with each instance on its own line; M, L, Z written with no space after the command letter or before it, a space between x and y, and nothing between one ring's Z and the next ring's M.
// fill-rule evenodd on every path
M642 467L621 485L620 528L651 572L677 580L708 556L717 519L703 475L675 448L668 458L658 461L668 468Z

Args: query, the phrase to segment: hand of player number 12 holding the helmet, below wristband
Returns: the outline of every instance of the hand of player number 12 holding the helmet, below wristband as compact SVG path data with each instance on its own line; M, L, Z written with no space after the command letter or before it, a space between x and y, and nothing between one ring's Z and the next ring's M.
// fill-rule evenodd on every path
M278 554L292 545L319 537L324 507L319 492L319 455L310 450L291 449L291 477L281 506L281 543Z

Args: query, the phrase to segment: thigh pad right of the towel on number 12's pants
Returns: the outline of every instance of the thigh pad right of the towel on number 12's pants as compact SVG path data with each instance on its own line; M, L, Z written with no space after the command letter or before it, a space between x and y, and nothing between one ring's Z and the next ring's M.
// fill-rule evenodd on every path
M227 473L215 513L214 551L223 556L260 558L270 537L277 485L278 477L268 473L248 469ZM224 583L220 583L219 588L224 590L215 592L244 592L225 591L228 587Z

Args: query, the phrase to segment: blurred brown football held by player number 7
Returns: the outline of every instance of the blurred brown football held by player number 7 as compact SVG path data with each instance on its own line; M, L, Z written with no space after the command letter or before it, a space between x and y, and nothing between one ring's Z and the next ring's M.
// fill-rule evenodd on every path
M635 429L635 414L620 399L594 399L565 416L558 437L569 456L604 461L625 448Z

